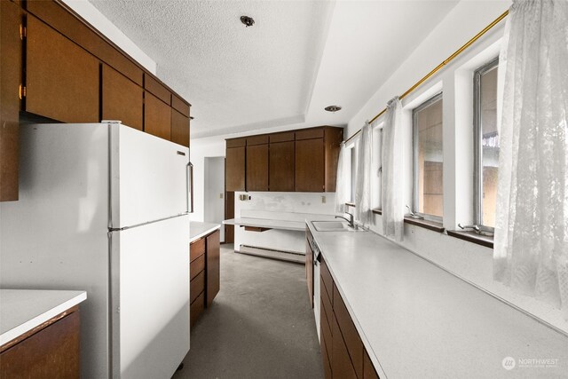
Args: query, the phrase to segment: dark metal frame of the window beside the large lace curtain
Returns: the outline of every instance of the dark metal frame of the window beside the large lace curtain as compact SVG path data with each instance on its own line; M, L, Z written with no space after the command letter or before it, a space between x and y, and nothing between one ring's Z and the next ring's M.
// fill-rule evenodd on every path
M494 232L483 224L483 118L481 116L481 77L499 69L499 57L491 59L473 73L473 224ZM498 79L499 80L499 79ZM499 102L498 102L499 103Z

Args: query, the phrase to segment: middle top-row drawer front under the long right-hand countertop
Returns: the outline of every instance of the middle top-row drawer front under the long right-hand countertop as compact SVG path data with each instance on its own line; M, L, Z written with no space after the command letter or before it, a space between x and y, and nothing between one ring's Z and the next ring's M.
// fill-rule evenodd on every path
M357 332L355 325L353 325L351 316L349 315L347 307L343 303L343 299L341 295L339 295L339 291L337 290L337 287L335 287L335 284L334 314L335 320L337 320L337 324L341 330L343 341L345 342L345 346L349 352L349 356L351 357L351 363L353 364L355 373L359 378L363 377L363 343L359 338L359 333Z

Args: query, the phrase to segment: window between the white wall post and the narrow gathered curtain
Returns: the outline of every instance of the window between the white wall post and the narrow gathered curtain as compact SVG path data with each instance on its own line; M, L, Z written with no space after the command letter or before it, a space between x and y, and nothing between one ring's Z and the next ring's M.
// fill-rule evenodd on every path
M414 213L441 221L444 216L442 94L413 112Z

